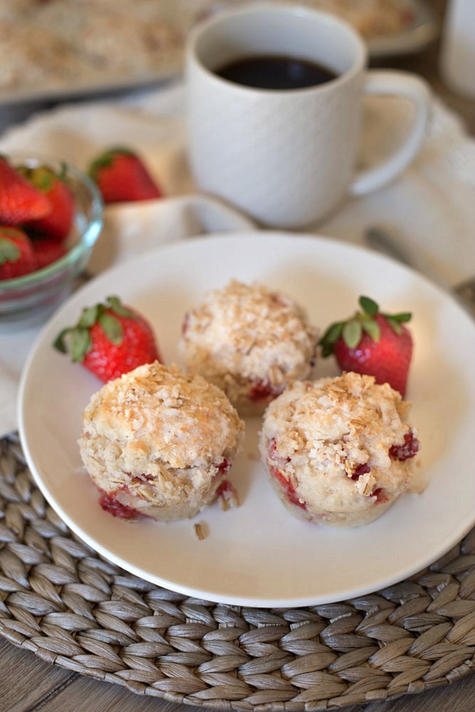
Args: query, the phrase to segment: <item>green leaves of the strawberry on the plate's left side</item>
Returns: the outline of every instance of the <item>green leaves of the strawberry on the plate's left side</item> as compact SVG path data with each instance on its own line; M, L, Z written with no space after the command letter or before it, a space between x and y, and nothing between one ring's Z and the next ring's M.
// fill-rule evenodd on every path
M117 317L136 319L136 315L125 307L120 299L115 296L108 297L105 304L95 304L86 307L80 315L78 323L73 327L63 329L53 346L61 353L71 354L73 362L83 362L85 355L90 352L93 342L90 329L95 324L100 325L105 337L115 346L120 346L123 338L123 329ZM68 341L68 344L66 342Z

